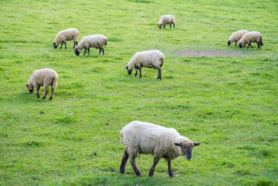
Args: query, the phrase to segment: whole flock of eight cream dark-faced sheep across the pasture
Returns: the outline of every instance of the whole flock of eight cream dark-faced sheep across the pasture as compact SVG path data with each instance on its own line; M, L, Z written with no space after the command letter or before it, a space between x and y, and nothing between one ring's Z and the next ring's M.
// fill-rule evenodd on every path
M161 29L161 26L165 28L165 24L170 24L170 28L172 28L172 24L175 26L174 16L161 16L161 19L157 24L159 29ZM104 55L104 45L107 44L107 38L105 36L100 34L85 36L79 43L78 38L79 31L77 29L66 29L60 31L54 40L54 48L61 45L61 49L63 44L65 44L65 49L67 49L67 41L74 40L74 52L76 56L79 56L82 49L85 50L84 56L86 51L88 51L89 55L90 47L99 49L99 54L102 52ZM261 33L256 31L236 31L231 34L231 37L228 40L228 45L231 45L233 42L238 42L240 48L245 47L246 44L247 48L250 46L252 47L251 42L256 42L258 44L258 48L261 48L261 45L263 45ZM164 54L157 49L137 52L126 65L126 70L129 75L131 75L133 69L136 70L135 76L137 76L137 72L139 70L139 77L142 77L141 68L146 67L158 69L157 79L161 79L161 66L163 65L164 60ZM44 86L44 95L42 99L46 98L49 86L51 86L51 96L49 98L49 100L51 100L53 98L57 82L58 75L55 70L42 68L33 72L28 84L25 86L28 88L30 93L32 93L35 88L38 98L40 98L40 86ZM124 174L126 162L129 160L133 171L137 176L141 176L135 161L138 155L152 154L154 156L154 163L152 168L149 170L149 176L154 175L154 169L161 157L165 158L168 165L169 176L172 177L174 174L172 173L171 161L180 155L184 155L187 160L190 160L193 147L201 144L199 142L191 141L186 137L182 137L179 132L173 128L166 128L160 125L154 125L152 123L145 123L141 121L132 121L126 125L120 133L120 140L125 146L122 163L120 165L120 173Z

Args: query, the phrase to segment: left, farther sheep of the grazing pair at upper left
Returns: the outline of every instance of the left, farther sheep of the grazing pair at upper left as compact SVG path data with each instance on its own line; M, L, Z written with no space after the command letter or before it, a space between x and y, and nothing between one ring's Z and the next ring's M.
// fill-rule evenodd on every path
M67 49L67 40L74 40L74 47L75 45L78 44L77 39L79 37L79 31L77 29L65 29L63 31L60 31L55 40L54 40L54 48L56 49L58 47L58 45L60 45L60 43L62 43L62 45L60 46L60 49L63 46L63 43L65 43L65 49Z

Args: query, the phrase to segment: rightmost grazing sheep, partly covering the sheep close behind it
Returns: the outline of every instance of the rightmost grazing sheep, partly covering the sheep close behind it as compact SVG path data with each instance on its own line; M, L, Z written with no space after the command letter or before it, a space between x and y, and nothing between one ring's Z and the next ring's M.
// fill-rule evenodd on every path
M252 47L251 42L256 42L256 44L258 44L259 49L261 48L261 45L263 45L262 38L263 36L261 36L261 33L257 31L251 31L243 35L243 37L238 41L238 45L241 48L245 47L247 43L247 48L249 48L250 46Z

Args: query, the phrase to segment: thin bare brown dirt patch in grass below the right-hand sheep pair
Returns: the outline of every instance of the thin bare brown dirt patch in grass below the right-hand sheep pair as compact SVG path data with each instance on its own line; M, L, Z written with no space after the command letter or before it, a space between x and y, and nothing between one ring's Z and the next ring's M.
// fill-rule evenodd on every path
M224 56L224 57L244 57L250 56L250 54L244 54L241 52L234 51L208 51L208 50L199 50L199 51L189 51L189 50L180 50L177 52L177 55L181 56Z

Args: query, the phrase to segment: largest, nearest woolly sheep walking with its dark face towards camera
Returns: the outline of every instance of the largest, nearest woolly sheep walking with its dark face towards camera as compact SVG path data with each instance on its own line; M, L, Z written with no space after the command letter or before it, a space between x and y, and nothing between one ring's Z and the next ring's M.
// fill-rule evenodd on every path
M132 121L123 127L120 133L120 140L125 150L119 171L124 174L126 162L129 159L137 176L141 176L141 173L136 165L135 158L140 154L152 154L154 156L154 164L149 170L149 176L154 176L154 168L163 157L168 164L169 176L173 177L171 161L180 155L185 155L186 159L190 160L193 146L201 145L199 142L182 137L173 128L141 121Z

